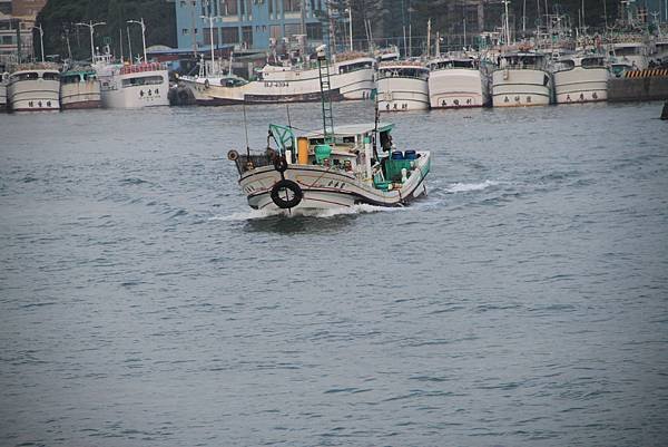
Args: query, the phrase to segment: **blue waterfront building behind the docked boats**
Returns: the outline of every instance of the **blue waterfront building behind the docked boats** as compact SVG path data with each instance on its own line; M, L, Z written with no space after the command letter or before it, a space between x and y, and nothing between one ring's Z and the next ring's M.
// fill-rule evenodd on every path
M175 8L179 49L207 51L212 45L232 45L266 50L272 42L301 33L322 41L320 18L326 0L176 0Z

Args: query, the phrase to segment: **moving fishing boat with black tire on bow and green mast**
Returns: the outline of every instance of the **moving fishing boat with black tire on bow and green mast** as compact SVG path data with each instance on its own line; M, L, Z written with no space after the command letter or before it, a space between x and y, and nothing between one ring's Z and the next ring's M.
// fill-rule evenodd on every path
M275 148L228 153L248 205L267 211L403 206L426 194L430 153L397 150L393 126L379 123L377 113L373 124L334 128L324 51L318 61L323 129L295 135L292 127L272 124L268 139Z

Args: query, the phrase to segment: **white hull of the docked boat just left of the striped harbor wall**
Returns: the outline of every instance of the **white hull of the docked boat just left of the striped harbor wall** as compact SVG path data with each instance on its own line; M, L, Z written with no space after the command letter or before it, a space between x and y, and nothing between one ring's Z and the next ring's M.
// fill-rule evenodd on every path
M605 67L554 72L557 104L591 103L608 99L609 71Z

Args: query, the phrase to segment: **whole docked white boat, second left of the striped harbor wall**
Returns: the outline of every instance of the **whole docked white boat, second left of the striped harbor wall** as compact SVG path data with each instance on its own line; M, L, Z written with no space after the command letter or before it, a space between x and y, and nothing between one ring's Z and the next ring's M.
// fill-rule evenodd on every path
M492 72L494 107L544 106L552 97L548 61L540 52L508 52L499 56Z

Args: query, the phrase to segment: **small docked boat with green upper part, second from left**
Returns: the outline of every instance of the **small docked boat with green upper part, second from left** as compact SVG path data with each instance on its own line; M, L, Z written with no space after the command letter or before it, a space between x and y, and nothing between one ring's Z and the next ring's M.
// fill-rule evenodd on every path
M60 75L60 107L63 110L101 106L100 81L92 68L72 69Z

